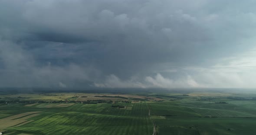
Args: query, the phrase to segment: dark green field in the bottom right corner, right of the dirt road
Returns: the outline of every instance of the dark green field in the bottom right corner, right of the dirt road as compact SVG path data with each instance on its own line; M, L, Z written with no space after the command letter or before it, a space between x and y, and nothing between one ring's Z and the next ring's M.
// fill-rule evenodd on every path
M160 127L160 135L187 135L187 131L195 132L191 135L253 135L256 118L197 118L184 116L168 116L167 119L154 119ZM171 129L177 130L171 130ZM186 130L186 132L184 132ZM175 131L175 132L174 132Z

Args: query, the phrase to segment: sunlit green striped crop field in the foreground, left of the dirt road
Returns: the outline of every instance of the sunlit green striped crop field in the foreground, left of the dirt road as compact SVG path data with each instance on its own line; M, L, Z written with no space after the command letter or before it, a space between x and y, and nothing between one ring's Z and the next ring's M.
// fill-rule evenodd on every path
M29 116L24 117L23 119L31 121L24 125L13 126L25 122L25 120L13 120L16 124L6 125L1 129L31 135L66 135L71 133L78 135L89 135L91 133L95 135L149 135L153 133L153 125L148 116L148 105L146 103L117 103L120 106L130 107L128 109L113 108L111 107L112 104L107 103L73 104L72 106L69 104L66 104L69 106L53 104L54 106L51 107L49 105L43 107L44 104L46 103L39 103L36 106L16 104L16 109L23 109L24 111L40 110L42 113L30 118ZM57 108L60 105L62 107ZM2 105L1 108L12 110L13 106L9 108L7 105ZM31 113L22 113L10 117L15 119Z

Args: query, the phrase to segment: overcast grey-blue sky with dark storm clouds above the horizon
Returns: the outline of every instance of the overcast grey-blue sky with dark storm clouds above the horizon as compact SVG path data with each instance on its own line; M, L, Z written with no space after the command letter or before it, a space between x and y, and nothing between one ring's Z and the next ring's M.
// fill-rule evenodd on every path
M256 0L0 0L0 87L256 88Z

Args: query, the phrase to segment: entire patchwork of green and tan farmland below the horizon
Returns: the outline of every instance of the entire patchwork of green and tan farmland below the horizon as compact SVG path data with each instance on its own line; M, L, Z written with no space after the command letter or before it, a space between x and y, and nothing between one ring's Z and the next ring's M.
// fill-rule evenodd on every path
M253 91L229 90L0 91L0 132L252 135L256 132L255 97Z

